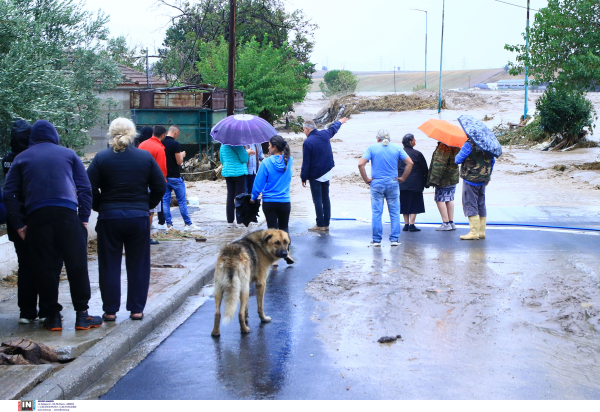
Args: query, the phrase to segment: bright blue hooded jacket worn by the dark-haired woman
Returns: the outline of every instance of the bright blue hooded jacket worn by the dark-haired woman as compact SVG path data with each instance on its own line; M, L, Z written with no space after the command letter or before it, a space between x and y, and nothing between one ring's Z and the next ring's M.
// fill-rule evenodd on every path
M290 157L286 168L282 155L269 156L263 160L252 187L252 200L258 199L262 193L263 202L288 203L293 161Z

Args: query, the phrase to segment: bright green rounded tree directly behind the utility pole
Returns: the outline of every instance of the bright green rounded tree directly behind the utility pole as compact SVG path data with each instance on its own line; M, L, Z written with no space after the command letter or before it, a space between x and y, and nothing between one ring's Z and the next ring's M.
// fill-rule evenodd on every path
M263 39L241 44L237 48L235 87L244 93L248 112L271 124L293 110L293 104L304 100L310 79L304 76L306 66L294 57L293 49L284 43L275 47ZM224 39L199 45L198 73L204 81L227 87L229 46Z

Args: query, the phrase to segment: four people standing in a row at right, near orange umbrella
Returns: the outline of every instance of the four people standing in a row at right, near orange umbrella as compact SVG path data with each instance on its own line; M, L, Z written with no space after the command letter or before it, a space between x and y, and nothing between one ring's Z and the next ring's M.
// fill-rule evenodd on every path
M485 188L490 182L494 168L493 155L481 150L470 138L460 149L438 142L428 167L423 154L414 149L417 142L412 134L404 136L402 148L390 143L391 138L386 130L380 130L376 139L377 143L367 148L358 164L363 180L371 188L372 246L381 246L384 200L388 205L392 225L390 242L392 246L397 246L400 213L404 215L405 223L402 230L419 232L420 229L415 226L416 215L425 212L423 191L432 186L435 187L434 200L442 217L442 224L436 231L456 230L454 195L459 175L464 181L463 211L469 219L470 227L469 233L460 238L485 239ZM365 170L369 161L370 178ZM458 165L462 165L460 174ZM399 183L399 187L396 182Z

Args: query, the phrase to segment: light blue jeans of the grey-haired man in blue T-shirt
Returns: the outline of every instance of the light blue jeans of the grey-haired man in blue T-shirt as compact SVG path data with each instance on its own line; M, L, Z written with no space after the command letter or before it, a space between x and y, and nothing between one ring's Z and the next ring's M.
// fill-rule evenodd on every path
M400 187L397 180L381 181L380 179L371 182L371 209L373 210L373 241L381 242L383 236L383 225L381 217L383 215L383 201L387 201L392 221L392 233L390 233L390 242L397 242L400 237Z

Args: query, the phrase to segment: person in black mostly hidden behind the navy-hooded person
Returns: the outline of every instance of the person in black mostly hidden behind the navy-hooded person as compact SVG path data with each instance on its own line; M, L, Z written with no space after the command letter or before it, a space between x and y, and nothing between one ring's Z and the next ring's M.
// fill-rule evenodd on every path
M15 157L29 147L29 135L31 134L31 125L25 120L17 120L12 127L10 135L11 151L2 160L2 168L4 176L8 175L12 162ZM25 222L27 224L27 222ZM27 245L17 233L17 229L7 221L6 230L8 232L8 240L13 242L15 253L17 254L17 262L19 264L17 278L17 304L19 305L20 316L19 323L28 324L38 317L43 322L46 314L37 311L38 292L35 285L33 262L29 257ZM56 256L55 266L62 266L62 258Z

